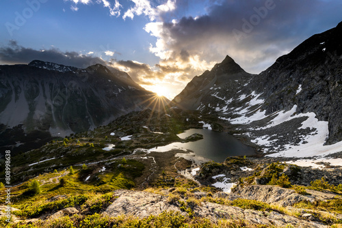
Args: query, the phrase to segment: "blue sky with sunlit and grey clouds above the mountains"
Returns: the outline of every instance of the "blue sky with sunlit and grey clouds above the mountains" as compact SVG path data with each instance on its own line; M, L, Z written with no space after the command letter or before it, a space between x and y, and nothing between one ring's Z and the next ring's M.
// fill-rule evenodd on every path
M0 64L101 63L172 99L226 55L258 74L341 12L341 0L1 0Z

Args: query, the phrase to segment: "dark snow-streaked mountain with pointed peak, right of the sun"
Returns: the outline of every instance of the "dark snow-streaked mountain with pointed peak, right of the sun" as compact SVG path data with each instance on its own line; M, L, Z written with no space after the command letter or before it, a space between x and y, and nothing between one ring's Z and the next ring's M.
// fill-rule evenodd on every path
M308 38L258 75L226 57L172 103L217 115L265 151L342 151L342 23Z

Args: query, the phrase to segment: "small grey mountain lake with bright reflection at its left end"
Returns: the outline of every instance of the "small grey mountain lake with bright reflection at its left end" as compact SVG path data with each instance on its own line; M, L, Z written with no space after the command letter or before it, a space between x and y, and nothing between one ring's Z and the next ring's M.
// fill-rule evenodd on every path
M162 147L150 149L166 152L171 149L191 149L196 155L209 158L215 162L223 162L228 156L244 156L255 154L254 149L241 143L235 137L224 132L207 129L189 129L178 134L181 139L194 133L202 134L203 139L188 143L170 143Z

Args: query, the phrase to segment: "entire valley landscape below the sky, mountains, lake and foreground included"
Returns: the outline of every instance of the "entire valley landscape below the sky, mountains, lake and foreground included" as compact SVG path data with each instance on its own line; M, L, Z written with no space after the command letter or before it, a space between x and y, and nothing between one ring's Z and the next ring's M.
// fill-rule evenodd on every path
M339 23L261 74L227 55L170 102L100 64L0 66L0 224L341 227L341 38Z

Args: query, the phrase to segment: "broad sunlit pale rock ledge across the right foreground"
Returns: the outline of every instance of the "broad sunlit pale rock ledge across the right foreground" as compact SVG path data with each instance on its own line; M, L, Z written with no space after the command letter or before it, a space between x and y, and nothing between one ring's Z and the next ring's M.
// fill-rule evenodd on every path
M315 190L310 191L310 196L304 196L295 193L295 190L261 185L248 186L244 190L232 194L216 193L213 197L208 197L207 193L198 192L194 193L192 197L181 197L176 202L172 202L170 196L166 196L166 193L161 195L134 190L118 190L114 194L118 199L109 205L104 212L109 216L125 214L142 218L169 210L181 212L181 214L187 216L187 212L183 210L183 203L181 202L187 202L189 199L194 202L195 200L192 199L194 197L198 201L195 201L193 205L189 205L193 216L209 218L213 222L217 222L222 218L231 220L243 219L251 225L275 225L276 227L286 227L287 225L293 225L294 227L330 227L316 221L317 218L310 214L308 210L292 208L291 206L304 200L315 202L337 197L333 193L321 193ZM210 202L213 199L221 203ZM272 209L269 211L267 211L267 208L265 210L243 209L243 207L224 205L222 204L223 199L226 201L234 201L236 199L258 200L269 203L272 205ZM342 219L342 214L330 212L324 212L324 214Z

